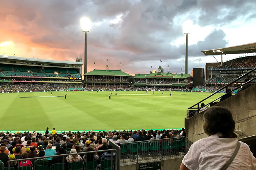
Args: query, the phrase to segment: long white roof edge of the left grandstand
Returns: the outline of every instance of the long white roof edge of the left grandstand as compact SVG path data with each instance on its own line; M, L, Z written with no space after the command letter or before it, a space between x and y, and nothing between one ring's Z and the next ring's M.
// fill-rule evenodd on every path
M58 61L58 60L45 60L45 59L33 59L33 58L24 58L24 57L15 57L0 55L0 60L18 60L18 61L28 61L28 62L38 62L38 63L58 63L58 64L76 64L83 65L83 62L70 62L70 61Z

